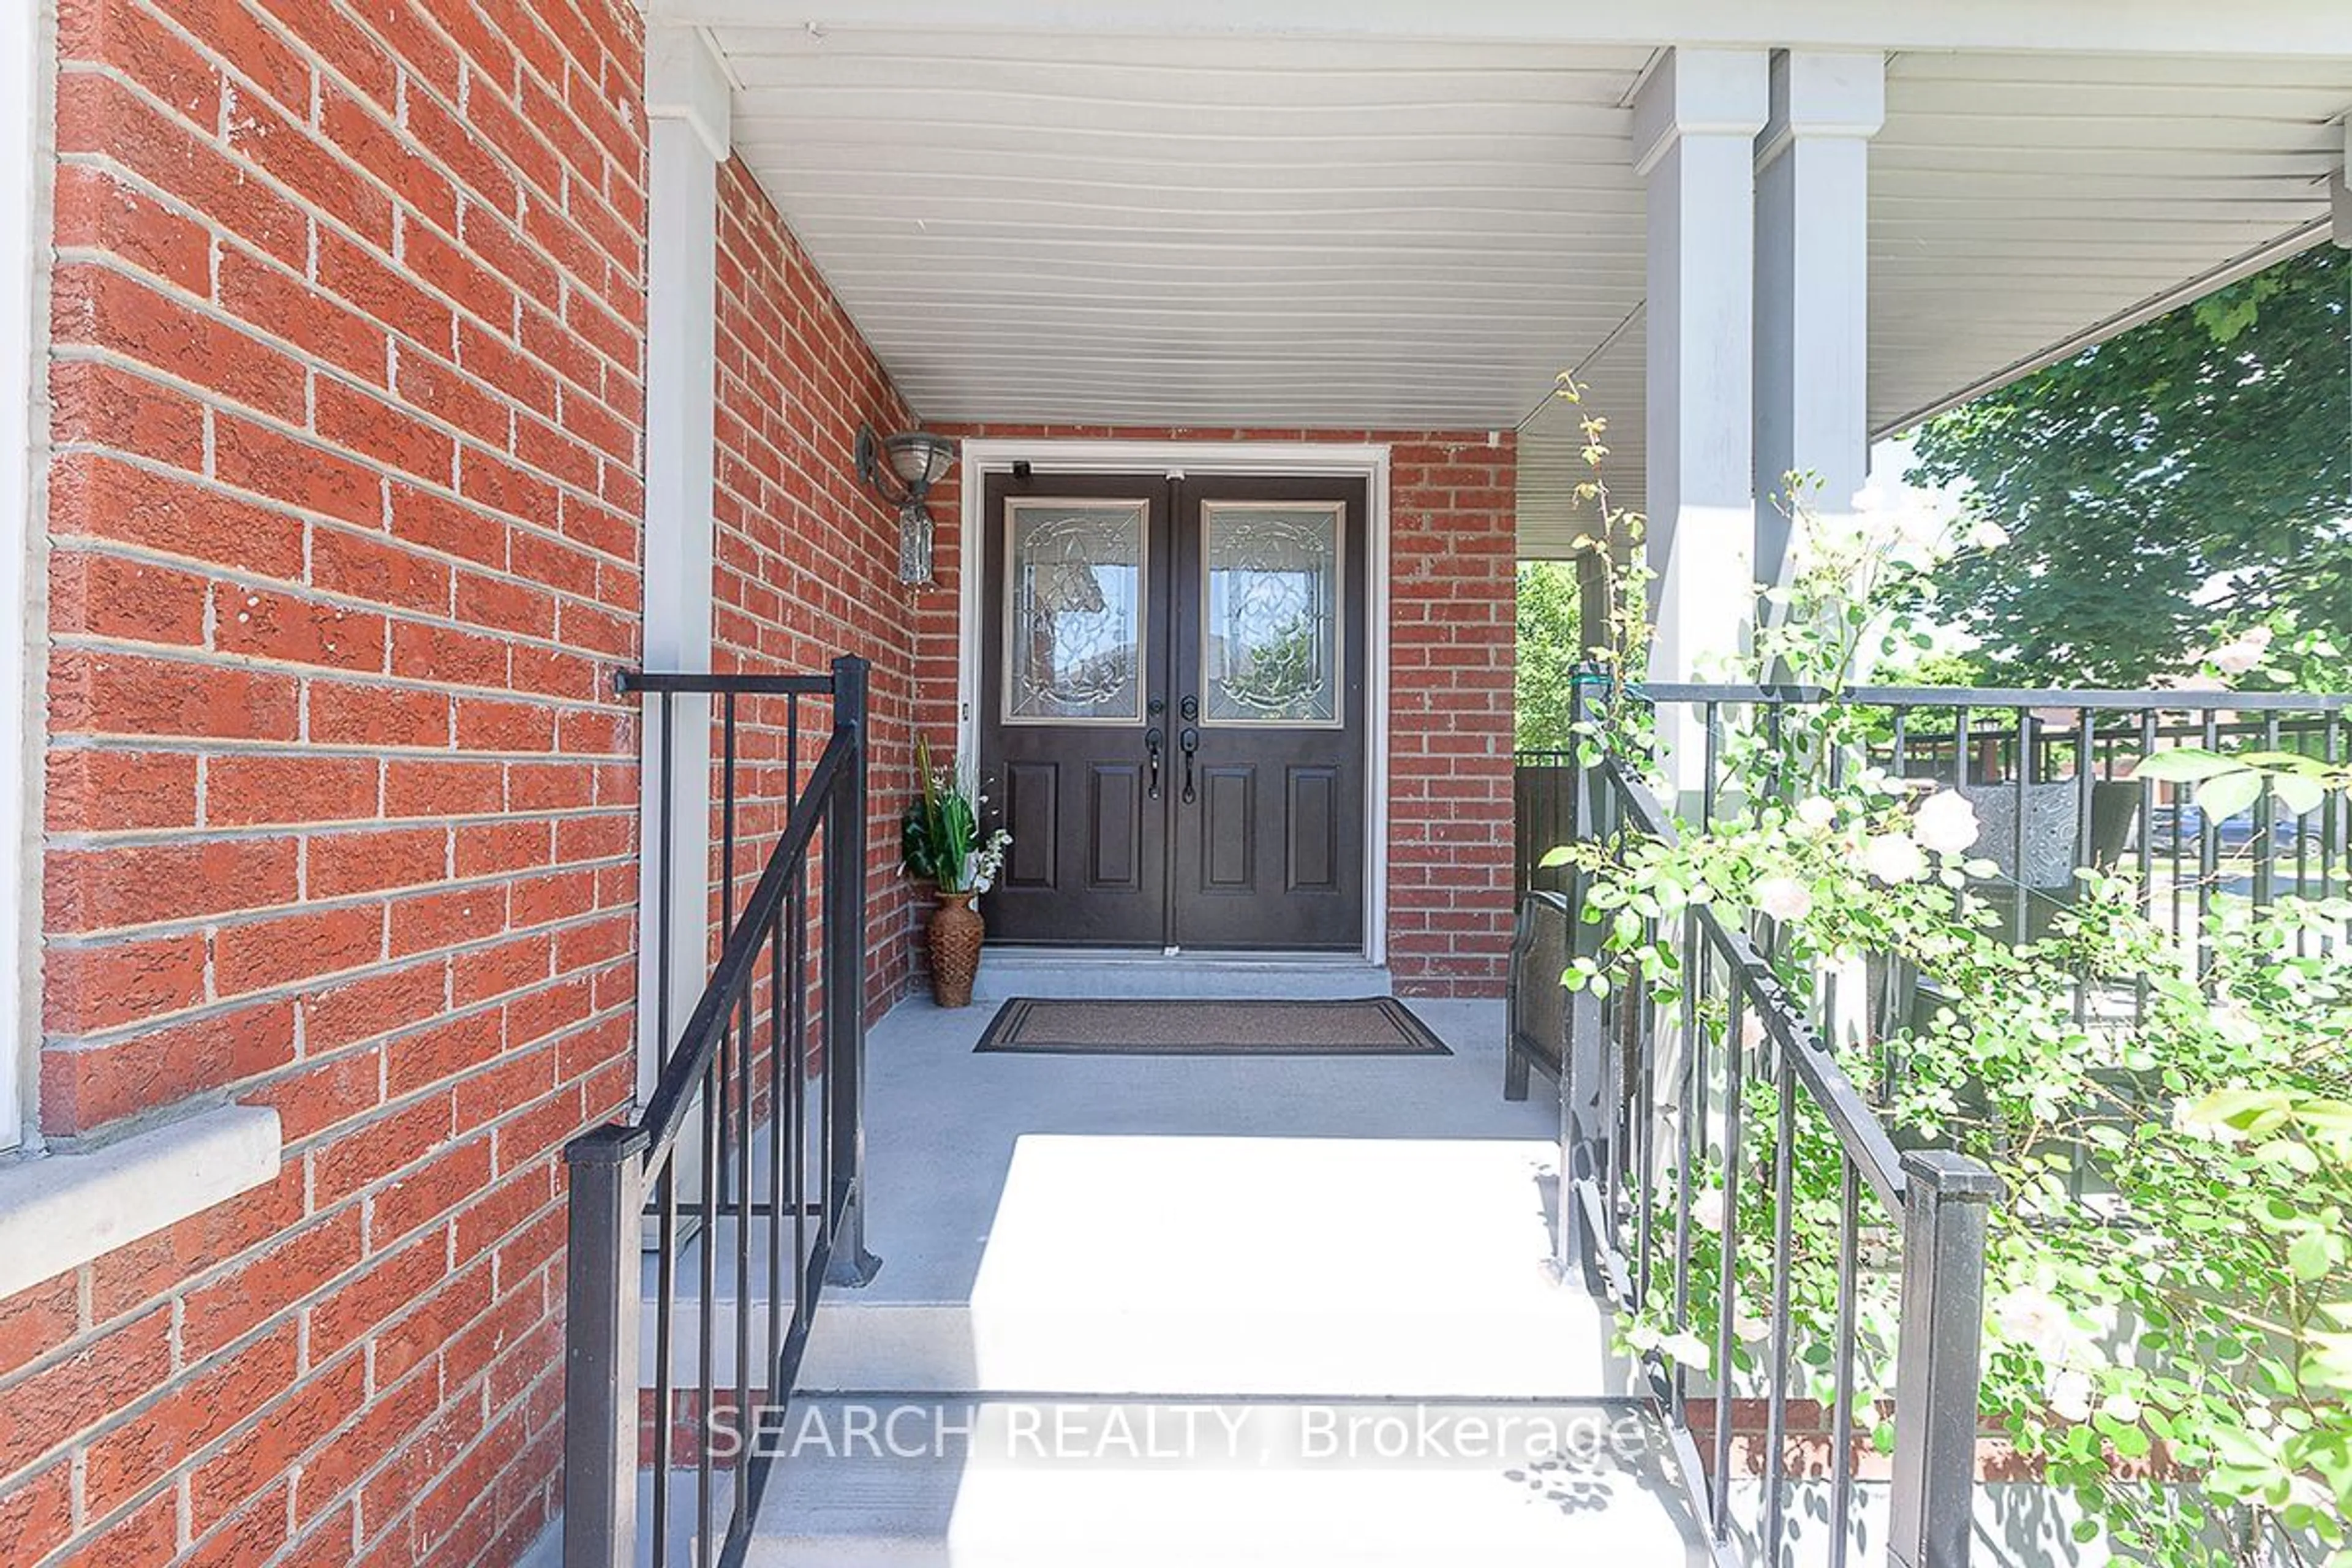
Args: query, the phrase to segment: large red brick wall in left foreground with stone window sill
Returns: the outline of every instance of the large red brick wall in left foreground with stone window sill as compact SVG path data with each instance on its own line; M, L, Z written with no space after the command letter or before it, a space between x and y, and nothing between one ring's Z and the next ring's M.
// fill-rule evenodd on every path
M630 1088L626 0L64 0L42 1126L282 1175L0 1302L21 1563L510 1561Z

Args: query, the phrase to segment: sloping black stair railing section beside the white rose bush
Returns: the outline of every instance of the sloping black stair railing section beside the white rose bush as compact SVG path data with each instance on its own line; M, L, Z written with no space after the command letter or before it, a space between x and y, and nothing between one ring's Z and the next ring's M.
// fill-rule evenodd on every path
M1670 813L1616 759L1581 769L1578 806L1585 835L1639 832L1675 837ZM1569 875L1559 900L1541 900L1564 926L1571 952L1595 950L1595 926L1573 919L1583 879ZM1538 917L1541 922L1543 917ZM1529 922L1529 924L1538 924ZM1889 1561L1898 1568L1959 1568L1969 1561L1976 1488L1978 1340L1985 1281L1985 1206L1999 1197L1992 1171L1940 1150L1898 1154L1877 1114L1832 1058L1823 1037L1783 990L1748 933L1712 907L1682 917L1682 964L1693 980L1668 1013L1639 987L1606 997L1576 992L1564 1009L1562 1072L1562 1201L1564 1262L1590 1267L1623 1312L1665 1302L1665 1342L1705 1328L1700 1298L1712 1305L1708 1352L1712 1378L1693 1378L1686 1359L1644 1354L1644 1373L1677 1455L1682 1481L1698 1507L1719 1561L1748 1556L1778 1563L1788 1528L1785 1453L1792 1375L1790 1248L1795 1121L1799 1100L1835 1133L1842 1164L1837 1225L1839 1326L1830 1467L1830 1563L1846 1561L1856 1486L1856 1366L1851 1359L1856 1286L1863 1251L1900 1246L1905 1333L1893 1380L1893 1474ZM1722 1025L1700 1018L1700 997L1722 1009ZM1745 1126L1750 1086L1776 1098L1773 1128L1757 1138ZM1750 1168L1757 1147L1764 1166ZM1696 1171L1722 1171L1722 1199L1710 1229L1717 1272L1693 1279ZM1738 1227L1750 1182L1773 1190L1771 1300L1764 1307L1769 1345L1750 1375L1738 1366L1738 1326L1750 1302L1740 1298ZM1877 1213L1865 1215L1863 1194ZM1661 1227L1668 1227L1661 1234ZM1658 1279L1668 1267L1670 1279ZM1755 1519L1736 1516L1736 1439L1762 1403L1762 1455L1750 1458L1762 1481ZM1700 1448L1700 1432L1705 1448ZM1809 1434L1813 1436L1813 1434ZM1752 1450L1752 1443L1750 1443Z

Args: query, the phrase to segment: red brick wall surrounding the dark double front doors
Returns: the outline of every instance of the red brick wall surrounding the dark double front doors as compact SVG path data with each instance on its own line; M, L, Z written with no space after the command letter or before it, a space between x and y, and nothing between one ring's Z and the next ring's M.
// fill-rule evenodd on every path
M1402 994L1498 997L1510 969L1517 447L1510 435L953 425L997 440L1378 442L1388 505L1388 966ZM955 736L960 491L934 491L938 583L915 635L917 724Z

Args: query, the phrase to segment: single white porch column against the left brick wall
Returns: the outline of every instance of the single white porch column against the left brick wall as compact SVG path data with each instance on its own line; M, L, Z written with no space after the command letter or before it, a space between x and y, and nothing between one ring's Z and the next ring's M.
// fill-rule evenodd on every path
M649 129L644 315L644 668L710 668L713 447L717 440L717 174L729 155L727 71L701 31L647 31ZM661 898L670 900L668 1025L703 992L710 898L710 701L675 698L663 757L659 701L644 701L637 870L637 1088L652 1088L661 1039ZM663 865L661 776L670 766ZM668 889L663 889L668 882Z

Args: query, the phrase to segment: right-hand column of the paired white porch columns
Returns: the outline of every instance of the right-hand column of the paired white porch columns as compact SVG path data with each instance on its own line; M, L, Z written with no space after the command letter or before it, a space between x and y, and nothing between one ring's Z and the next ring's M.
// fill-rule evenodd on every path
M1757 141L1755 578L1790 574L1797 503L1837 527L1870 477L1870 136L1886 59L1790 49L1771 61ZM1769 614L1769 611L1759 611Z

